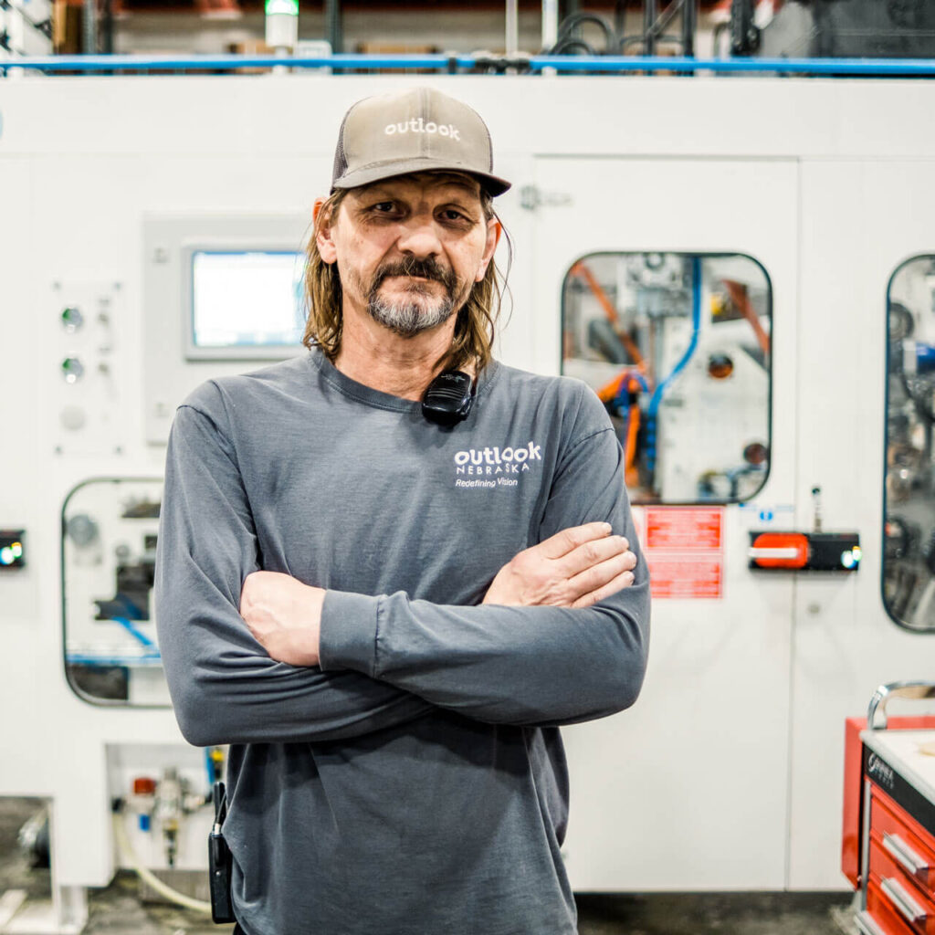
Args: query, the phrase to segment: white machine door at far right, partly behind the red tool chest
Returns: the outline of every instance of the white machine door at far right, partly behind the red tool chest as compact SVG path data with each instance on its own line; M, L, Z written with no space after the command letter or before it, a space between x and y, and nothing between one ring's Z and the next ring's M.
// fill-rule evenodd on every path
M821 487L825 527L857 530L864 560L798 582L796 889L841 885L841 770L827 764L842 762L844 718L879 684L935 673L933 173L931 159L801 166L799 506Z

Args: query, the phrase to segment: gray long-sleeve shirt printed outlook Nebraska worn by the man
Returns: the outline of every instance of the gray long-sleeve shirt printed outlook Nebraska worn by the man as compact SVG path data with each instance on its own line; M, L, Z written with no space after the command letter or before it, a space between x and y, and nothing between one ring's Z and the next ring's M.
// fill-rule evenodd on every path
M595 520L636 542L620 446L578 381L492 365L447 430L315 350L180 407L159 639L184 736L232 745L250 935L575 931L557 726L637 697L645 562L586 610L479 605L513 555ZM237 609L259 568L328 589L320 667L253 640Z

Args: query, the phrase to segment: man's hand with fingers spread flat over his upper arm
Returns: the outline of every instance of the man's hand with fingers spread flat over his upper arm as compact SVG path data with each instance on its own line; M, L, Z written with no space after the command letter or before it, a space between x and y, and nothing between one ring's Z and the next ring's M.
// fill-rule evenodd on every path
M484 604L590 607L633 583L637 556L607 523L587 523L514 555L500 568Z

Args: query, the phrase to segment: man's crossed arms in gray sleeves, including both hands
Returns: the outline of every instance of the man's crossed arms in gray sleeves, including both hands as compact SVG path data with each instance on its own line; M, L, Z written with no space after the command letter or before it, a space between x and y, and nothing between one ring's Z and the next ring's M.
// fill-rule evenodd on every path
M182 407L166 458L157 626L187 740L345 740L438 708L489 723L566 724L636 698L648 576L606 531L610 524L633 540L611 431L568 454L545 507L542 542L502 568L477 607L401 592L323 592L288 576L292 590L270 597L227 439L204 412ZM586 525L595 519L598 535ZM295 604L291 618L270 606L283 594ZM283 626L289 619L295 626ZM283 661L287 654L292 662Z

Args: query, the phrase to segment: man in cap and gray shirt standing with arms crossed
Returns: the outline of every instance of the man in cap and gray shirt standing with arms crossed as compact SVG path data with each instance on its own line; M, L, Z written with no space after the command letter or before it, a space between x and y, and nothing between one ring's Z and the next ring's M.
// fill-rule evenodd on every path
M491 360L508 187L460 102L358 102L309 353L176 415L160 644L185 737L231 744L248 935L575 931L556 727L637 697L648 576L597 396Z

